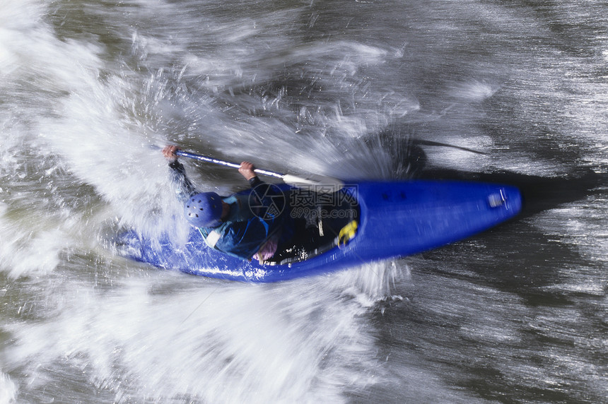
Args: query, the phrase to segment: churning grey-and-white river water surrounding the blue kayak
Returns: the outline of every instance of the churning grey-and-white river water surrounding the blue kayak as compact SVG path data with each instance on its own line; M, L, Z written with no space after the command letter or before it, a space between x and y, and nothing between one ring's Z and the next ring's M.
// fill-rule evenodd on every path
M602 1L1 0L0 403L606 403L607 111ZM333 275L199 278L112 248L184 231L166 143L526 205Z

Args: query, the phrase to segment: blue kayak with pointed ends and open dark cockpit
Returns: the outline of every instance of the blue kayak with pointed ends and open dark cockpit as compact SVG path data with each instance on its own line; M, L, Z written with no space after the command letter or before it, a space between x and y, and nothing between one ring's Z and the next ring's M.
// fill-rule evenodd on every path
M517 188L477 182L353 182L335 194L310 195L278 187L289 195L288 203L301 198L290 212L301 220L293 245L281 246L269 262L211 249L196 229L185 245L125 232L118 240L120 254L193 275L276 282L434 249L498 225L522 208Z

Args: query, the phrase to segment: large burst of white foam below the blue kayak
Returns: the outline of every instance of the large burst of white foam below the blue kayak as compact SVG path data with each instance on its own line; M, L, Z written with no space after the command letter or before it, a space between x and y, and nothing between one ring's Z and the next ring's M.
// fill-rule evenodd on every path
M45 369L64 362L118 401L341 402L344 386L356 393L382 372L368 304L343 285L334 277L268 287L153 275L103 292L69 282L47 291L47 321L8 327L17 342L6 367L29 374L36 391Z

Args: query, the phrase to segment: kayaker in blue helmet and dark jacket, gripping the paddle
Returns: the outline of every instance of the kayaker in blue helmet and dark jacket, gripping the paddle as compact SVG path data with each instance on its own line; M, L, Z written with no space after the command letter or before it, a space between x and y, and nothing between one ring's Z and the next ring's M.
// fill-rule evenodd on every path
M288 215L260 208L281 201L269 184L262 182L251 162L242 162L238 171L249 182L252 192L222 197L215 192L199 192L187 178L177 160L175 145L163 148L169 162L177 197L184 202L188 222L199 229L208 246L240 259L267 261L280 242L290 238ZM254 194L255 193L255 194Z

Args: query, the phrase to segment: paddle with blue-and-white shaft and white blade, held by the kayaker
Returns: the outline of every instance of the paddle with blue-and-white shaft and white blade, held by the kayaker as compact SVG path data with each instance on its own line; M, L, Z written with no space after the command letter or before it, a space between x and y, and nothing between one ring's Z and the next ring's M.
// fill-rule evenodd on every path
M216 158L211 158L204 155L185 152L184 150L177 150L175 151L175 154L182 157L192 158L194 160L211 162L217 165L225 165L226 167L240 167L240 164L235 164L234 162L218 160ZM254 171L257 174L263 174L269 177L279 178L283 180L283 182L285 182L286 184L289 184L291 186L297 186L298 188L310 188L314 186L315 189L313 189L313 191L322 192L325 194L331 194L335 191L339 191L344 186L344 182L341 182L339 179L325 177L324 175L309 174L306 177L300 177L293 174L281 174L279 172L260 170L259 168L256 168Z

